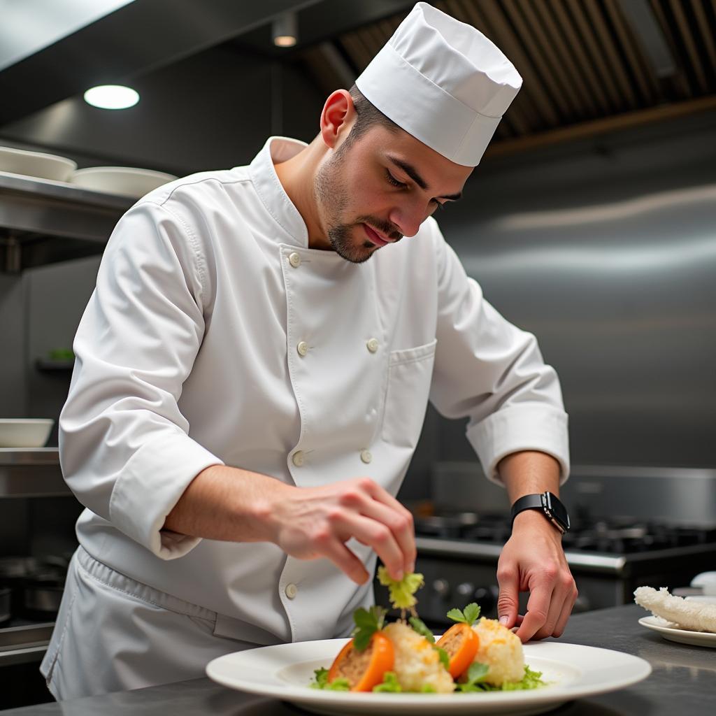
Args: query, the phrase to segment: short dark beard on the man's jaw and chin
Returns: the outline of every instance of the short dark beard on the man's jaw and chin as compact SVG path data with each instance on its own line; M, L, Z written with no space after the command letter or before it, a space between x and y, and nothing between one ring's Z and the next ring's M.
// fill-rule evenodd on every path
M375 253L377 246L372 241L368 241L367 238L362 242L352 238L352 233L356 228L361 233L365 233L361 226L363 222L331 223L331 217L342 216L349 203L348 192L341 181L344 155L347 154L347 152L342 151L344 146L345 142L338 148L334 158L321 166L316 173L314 197L323 215L329 217L326 236L331 242L334 251L346 261L364 263ZM370 219L370 217L359 218ZM382 222L374 221L369 223L373 223L373 226L380 226Z

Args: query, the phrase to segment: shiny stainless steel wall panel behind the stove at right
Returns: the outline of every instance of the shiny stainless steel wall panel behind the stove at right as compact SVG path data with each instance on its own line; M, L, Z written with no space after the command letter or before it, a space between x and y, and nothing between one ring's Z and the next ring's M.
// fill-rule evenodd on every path
M557 369L573 463L716 466L716 113L485 162L465 195L442 232ZM438 460L464 443L438 425Z

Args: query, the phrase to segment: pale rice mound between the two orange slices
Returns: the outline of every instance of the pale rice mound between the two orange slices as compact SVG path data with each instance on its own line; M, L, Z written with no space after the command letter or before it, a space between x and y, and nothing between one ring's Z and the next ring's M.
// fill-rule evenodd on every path
M425 685L438 694L455 690L453 677L442 666L440 656L425 637L401 621L388 624L383 632L395 649L393 671L403 691L420 692Z

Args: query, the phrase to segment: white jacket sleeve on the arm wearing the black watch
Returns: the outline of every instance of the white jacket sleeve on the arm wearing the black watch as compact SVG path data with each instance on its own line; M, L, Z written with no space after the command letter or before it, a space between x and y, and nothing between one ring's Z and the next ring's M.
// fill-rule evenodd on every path
M445 417L468 417L467 437L485 475L500 483L505 455L539 450L569 475L567 414L556 371L536 338L507 321L465 274L442 238L437 256L437 350L430 400Z

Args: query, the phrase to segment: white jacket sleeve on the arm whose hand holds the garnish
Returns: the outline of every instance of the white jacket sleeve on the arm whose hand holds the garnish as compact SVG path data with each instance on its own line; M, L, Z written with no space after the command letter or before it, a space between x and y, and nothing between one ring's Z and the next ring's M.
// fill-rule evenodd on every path
M77 499L160 558L198 538L162 530L195 475L223 464L189 437L178 402L203 339L211 293L200 239L140 202L107 243L74 339L59 417L64 478Z

